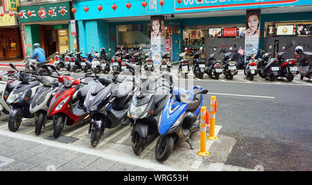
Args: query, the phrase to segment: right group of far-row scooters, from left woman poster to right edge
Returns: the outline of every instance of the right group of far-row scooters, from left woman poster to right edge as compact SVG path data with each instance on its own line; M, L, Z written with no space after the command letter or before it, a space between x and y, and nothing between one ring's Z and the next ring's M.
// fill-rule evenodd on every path
M295 42L291 42L287 46L284 46L284 50L294 46ZM272 46L270 46L272 49ZM185 49L187 51L187 48ZM254 53L246 56L246 62L244 63L243 56L237 51L233 51L232 48L227 51L226 49L221 49L219 54L223 54L223 60L216 59L216 48L214 48L215 53L211 53L207 59L202 58L202 48L197 52L193 52L193 73L196 78L203 78L204 74L210 78L218 79L223 73L225 78L232 80L235 75L238 74L238 69L243 69L245 76L253 80L254 76L259 76L261 78L270 79L272 81L277 80L278 77L286 78L288 82L293 81L294 77L300 73L300 79L304 77L311 78L311 56L312 53L309 51L302 52L302 59L299 62L299 69L296 67L296 59L284 60L283 55L285 51L277 53L275 58L271 57L271 53L266 53L266 51L254 49ZM189 73L189 60L187 60L186 55L188 53L180 53L180 65L179 73L187 76Z

